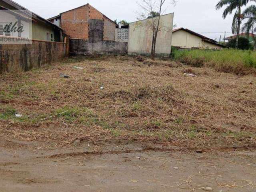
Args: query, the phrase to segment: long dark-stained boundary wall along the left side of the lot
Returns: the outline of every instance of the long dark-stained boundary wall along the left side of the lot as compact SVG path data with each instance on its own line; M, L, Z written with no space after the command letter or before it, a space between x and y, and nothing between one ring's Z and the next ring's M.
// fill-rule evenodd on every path
M68 56L68 42L32 40L32 44L0 44L0 73L51 65Z

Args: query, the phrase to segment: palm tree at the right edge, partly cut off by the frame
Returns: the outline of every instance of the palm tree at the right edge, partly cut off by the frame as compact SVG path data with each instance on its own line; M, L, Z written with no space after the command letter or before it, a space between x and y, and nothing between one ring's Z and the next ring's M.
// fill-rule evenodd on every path
M248 8L246 8L246 10L244 10L243 12L244 15L244 19L247 19L246 23L243 25L242 30L244 32L249 33L252 32L252 34L254 34L256 32L256 6L255 5L251 5ZM253 35L253 40L254 40L254 50L256 50L256 36Z

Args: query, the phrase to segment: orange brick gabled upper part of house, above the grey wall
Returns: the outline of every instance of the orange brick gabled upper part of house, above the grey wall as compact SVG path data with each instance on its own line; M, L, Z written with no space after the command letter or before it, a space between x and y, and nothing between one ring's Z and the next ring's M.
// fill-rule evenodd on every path
M60 26L70 38L89 42L115 41L118 27L90 4L60 13L48 20Z

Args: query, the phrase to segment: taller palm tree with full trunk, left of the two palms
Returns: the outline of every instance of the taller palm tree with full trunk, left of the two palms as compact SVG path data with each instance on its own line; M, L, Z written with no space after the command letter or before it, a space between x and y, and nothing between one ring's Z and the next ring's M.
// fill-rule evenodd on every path
M223 18L225 19L228 14L232 14L235 10L235 15L232 22L232 32L236 32L236 48L238 48L238 38L240 34L240 26L242 23L243 15L242 15L242 6L246 6L249 1L256 0L220 0L216 5L216 10L227 6L223 12Z

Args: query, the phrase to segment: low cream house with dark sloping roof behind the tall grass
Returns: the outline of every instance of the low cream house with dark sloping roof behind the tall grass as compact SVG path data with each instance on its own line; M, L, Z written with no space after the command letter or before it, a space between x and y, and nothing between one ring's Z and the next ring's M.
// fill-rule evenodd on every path
M185 28L172 31L172 46L181 49L222 49L225 46Z

